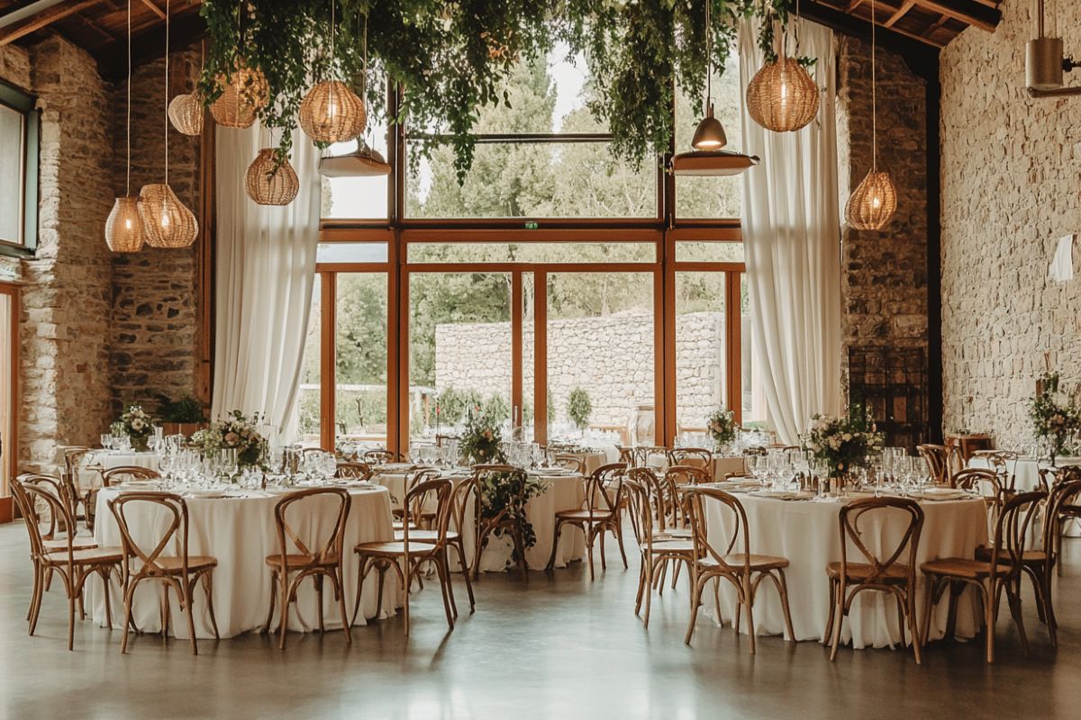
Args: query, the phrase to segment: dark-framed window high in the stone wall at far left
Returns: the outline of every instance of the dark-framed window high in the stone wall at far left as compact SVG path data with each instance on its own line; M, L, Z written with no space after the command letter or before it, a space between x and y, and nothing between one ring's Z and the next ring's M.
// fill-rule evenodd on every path
M38 113L34 98L0 83L0 249L37 244Z

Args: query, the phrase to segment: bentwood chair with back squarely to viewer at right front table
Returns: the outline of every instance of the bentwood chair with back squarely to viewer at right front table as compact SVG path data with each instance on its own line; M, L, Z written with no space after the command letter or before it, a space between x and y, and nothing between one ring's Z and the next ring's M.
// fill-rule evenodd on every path
M872 517L889 517L900 513L908 515L908 526L893 551L883 548L880 556L864 542L859 524L867 521L871 526L868 530L877 533L880 528L871 520ZM830 613L823 641L830 638L830 661L837 657L837 648L841 644L841 625L849 615L853 601L859 593L872 590L893 595L897 601L897 629L900 630L900 643L905 644L907 622L912 636L912 653L916 655L917 664L921 663L921 640L916 622L916 553L923 530L923 510L915 500L907 498L867 498L842 505L838 525L841 531L841 561L826 566L826 574L829 575ZM859 551L864 561L849 561L850 544ZM906 547L908 562L899 562Z

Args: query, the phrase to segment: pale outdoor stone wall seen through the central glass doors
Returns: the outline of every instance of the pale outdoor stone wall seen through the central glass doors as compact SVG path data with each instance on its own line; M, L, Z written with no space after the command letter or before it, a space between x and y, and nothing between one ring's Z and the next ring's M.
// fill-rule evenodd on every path
M533 357L533 331L524 328L524 355ZM566 398L576 386L592 400L595 425L626 427L639 405L652 405L655 390L653 316L612 315L548 323L548 388L556 415L566 419ZM679 316L676 335L679 422L704 427L724 391L724 315ZM526 395L532 362L523 364ZM436 327L436 388L510 396L510 324L443 324Z

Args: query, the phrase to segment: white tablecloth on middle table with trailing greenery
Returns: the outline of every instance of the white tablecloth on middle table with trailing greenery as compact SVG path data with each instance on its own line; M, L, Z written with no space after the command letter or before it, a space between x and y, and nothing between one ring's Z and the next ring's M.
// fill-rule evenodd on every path
M455 483L466 479L463 476L452 477ZM393 498L393 505L401 506L401 501L405 497L405 475L403 473L383 473L372 477L374 483L386 486ZM540 480L548 486L547 490L539 495L531 498L525 503L525 515L530 524L533 525L533 532L536 533L536 544L526 548L525 561L532 570L543 570L548 565L551 556L551 543L556 534L556 513L564 510L577 510L585 502L586 493L580 475L546 475ZM472 522L472 513L467 512L466 522ZM475 553L475 539L472 528L466 533L466 559L472 562ZM481 557L481 570L484 572L502 572L508 567L516 567L511 561L513 543L510 538L489 539L488 547ZM559 548L556 551L556 567L564 568L572 560L579 560L586 554L585 536L573 526L566 526L559 539ZM458 568L455 553L451 553L452 566Z

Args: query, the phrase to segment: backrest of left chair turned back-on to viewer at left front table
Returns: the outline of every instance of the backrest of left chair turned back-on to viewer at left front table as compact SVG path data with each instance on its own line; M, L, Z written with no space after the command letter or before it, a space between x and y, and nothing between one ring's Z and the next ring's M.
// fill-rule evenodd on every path
M155 526L155 541L141 545L132 536L131 526L128 522L129 505L156 505L165 515L165 521ZM124 554L124 580L131 572L131 560L138 559L139 567L135 571L137 575L163 575L165 571L158 565L158 558L179 557L182 569L185 575L188 574L188 505L184 498L174 492L157 492L150 490L137 490L122 492L109 500L109 510L120 528L120 545ZM166 546L172 543L179 546L176 555L165 552ZM147 549L147 548L150 549Z

